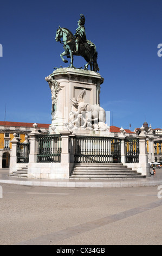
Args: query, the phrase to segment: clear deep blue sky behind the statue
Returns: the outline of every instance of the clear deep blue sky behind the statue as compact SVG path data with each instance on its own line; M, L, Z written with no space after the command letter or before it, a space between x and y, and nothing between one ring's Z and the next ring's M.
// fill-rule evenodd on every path
M67 67L55 41L59 27L73 34L80 14L87 39L98 51L100 105L111 113L111 125L131 130L146 120L162 128L161 0L2 0L3 57L0 57L0 120L51 123L51 92L44 80L54 67ZM77 68L85 65L74 56ZM6 111L5 111L6 109Z

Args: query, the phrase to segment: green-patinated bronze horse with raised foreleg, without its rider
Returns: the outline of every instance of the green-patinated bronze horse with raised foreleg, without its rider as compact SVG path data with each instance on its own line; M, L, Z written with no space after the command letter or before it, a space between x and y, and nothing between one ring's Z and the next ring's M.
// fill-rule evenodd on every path
M67 28L59 28L57 29L56 32L56 37L55 40L57 42L61 42L61 38L63 39L63 48L64 52L60 54L61 59L63 62L67 63L68 60L64 59L63 56L67 56L68 58L70 57L70 68L74 68L73 65L73 56L75 55L75 36L72 34L72 32L69 31ZM96 52L96 46L90 42L90 46L88 44L88 41L85 43L80 44L79 46L79 53L77 53L77 56L82 56L85 58L87 64L85 65L85 69L88 69L88 65L90 65L90 70L93 70L95 72L99 71L99 66L97 63L97 57L98 53Z

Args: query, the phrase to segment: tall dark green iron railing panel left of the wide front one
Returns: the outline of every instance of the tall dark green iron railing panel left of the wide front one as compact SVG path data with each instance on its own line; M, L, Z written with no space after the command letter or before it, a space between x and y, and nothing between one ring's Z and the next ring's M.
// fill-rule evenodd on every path
M41 135L37 139L37 162L61 162L61 135Z

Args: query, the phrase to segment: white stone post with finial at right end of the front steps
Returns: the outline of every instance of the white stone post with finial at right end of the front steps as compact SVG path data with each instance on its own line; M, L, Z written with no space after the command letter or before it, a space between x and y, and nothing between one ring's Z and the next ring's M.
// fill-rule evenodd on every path
M148 163L148 156L146 153L146 131L144 126L140 128L141 133L139 138L139 168L142 175L150 176L150 164Z

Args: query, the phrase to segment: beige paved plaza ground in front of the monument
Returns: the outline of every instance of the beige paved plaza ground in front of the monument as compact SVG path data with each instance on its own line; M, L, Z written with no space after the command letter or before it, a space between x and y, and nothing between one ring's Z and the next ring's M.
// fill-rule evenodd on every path
M157 179L161 173L162 169L157 169ZM162 243L162 198L158 198L158 185L111 188L0 185L3 188L0 245Z

